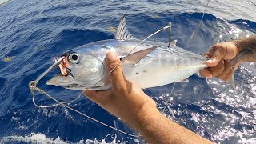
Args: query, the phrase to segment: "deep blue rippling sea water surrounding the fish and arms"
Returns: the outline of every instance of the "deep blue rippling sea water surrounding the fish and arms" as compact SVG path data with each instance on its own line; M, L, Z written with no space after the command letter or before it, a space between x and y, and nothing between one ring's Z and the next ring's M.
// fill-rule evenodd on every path
M2 2L2 1L0 1ZM255 0L211 0L191 46L206 1L13 0L0 6L0 143L144 143L120 134L62 106L38 108L28 88L53 64L52 57L89 42L114 38L123 14L136 38L146 38L168 22L178 46L204 54L216 42L256 34ZM151 38L168 43L168 30ZM38 87L67 101L80 91ZM237 90L226 82L198 74L178 82L164 114L182 126L221 143L256 143L256 64L244 63L235 72ZM173 84L145 90L162 110ZM36 102L54 104L36 93ZM82 97L69 106L128 133L134 133L106 110ZM177 131L178 133L178 131ZM136 133L134 133L136 134Z

